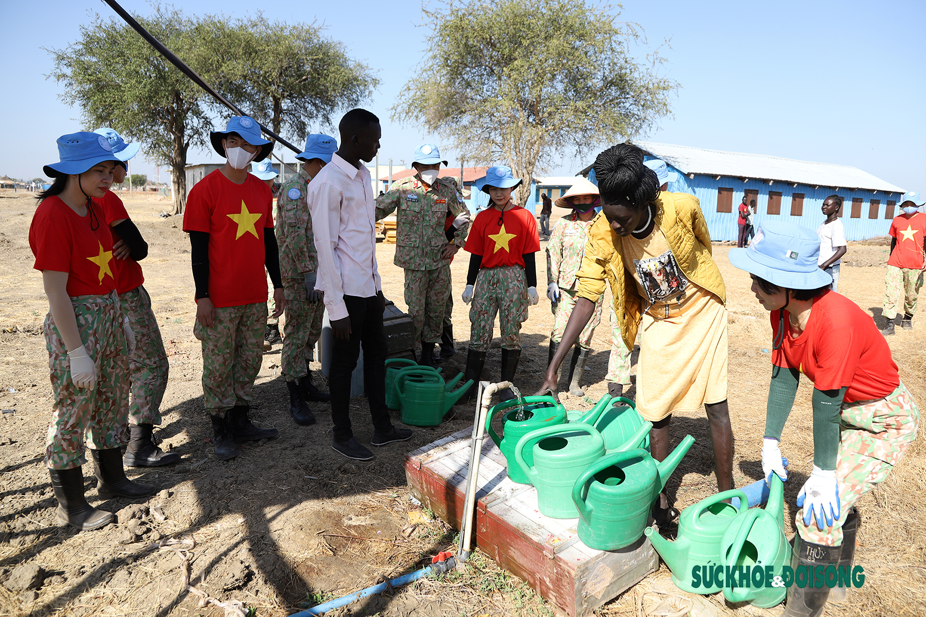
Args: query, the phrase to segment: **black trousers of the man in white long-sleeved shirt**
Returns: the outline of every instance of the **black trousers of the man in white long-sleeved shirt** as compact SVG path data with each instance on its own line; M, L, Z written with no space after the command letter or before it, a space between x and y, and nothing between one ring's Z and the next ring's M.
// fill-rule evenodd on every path
M377 433L391 433L393 423L386 408L386 335L382 330L382 300L379 296L344 296L350 317L350 340L334 338L328 386L332 394L334 438L354 437L350 423L350 381L363 345L363 386L367 391L369 415Z

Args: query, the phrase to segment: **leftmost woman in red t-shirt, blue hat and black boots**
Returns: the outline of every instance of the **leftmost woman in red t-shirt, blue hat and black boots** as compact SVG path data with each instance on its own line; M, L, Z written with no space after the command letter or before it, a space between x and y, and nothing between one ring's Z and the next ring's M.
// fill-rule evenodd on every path
M29 229L33 267L42 271L48 296L43 331L55 396L45 466L58 501L58 520L97 529L111 523L113 515L84 499L84 434L96 463L100 497L142 497L156 491L131 482L122 468L133 341L116 294L112 235L93 203L109 190L116 156L96 133L64 135L57 144L61 160L44 167L55 182L39 193Z

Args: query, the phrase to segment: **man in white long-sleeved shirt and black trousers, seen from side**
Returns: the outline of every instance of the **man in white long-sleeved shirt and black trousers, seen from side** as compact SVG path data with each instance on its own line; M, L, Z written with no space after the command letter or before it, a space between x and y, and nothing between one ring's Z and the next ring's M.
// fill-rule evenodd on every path
M370 443L384 446L411 438L395 428L386 408L386 336L382 313L386 301L376 264L375 203L367 167L380 149L380 118L366 109L352 109L338 125L341 147L332 162L308 185L308 209L319 254L315 289L324 291L332 322L334 346L328 382L332 395L332 448L357 461L372 452L351 430L350 381L363 344L363 382L373 420Z

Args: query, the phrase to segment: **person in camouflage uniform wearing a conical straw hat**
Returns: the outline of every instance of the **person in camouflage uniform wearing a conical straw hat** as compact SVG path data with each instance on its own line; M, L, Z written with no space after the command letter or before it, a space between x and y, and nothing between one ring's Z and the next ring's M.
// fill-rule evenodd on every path
M546 364L553 361L563 331L569 322L569 315L576 304L576 273L582 265L585 253L587 231L595 216L594 208L600 202L598 187L587 179L580 178L565 195L557 199L557 207L569 208L571 215L557 221L546 245L546 297L553 303L556 319L550 332L550 353ZM580 386L588 354L592 351L591 342L594 328L601 322L601 308L604 296L594 304L594 314L576 341L575 351L569 363L569 394L584 396L585 390Z

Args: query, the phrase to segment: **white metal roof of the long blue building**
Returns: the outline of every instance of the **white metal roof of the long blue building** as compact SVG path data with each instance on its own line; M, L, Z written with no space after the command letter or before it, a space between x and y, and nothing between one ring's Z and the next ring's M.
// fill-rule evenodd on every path
M661 158L684 174L732 176L734 178L779 180L810 186L904 192L890 182L857 167L798 161L793 158L706 150L669 143L635 142L649 154Z

